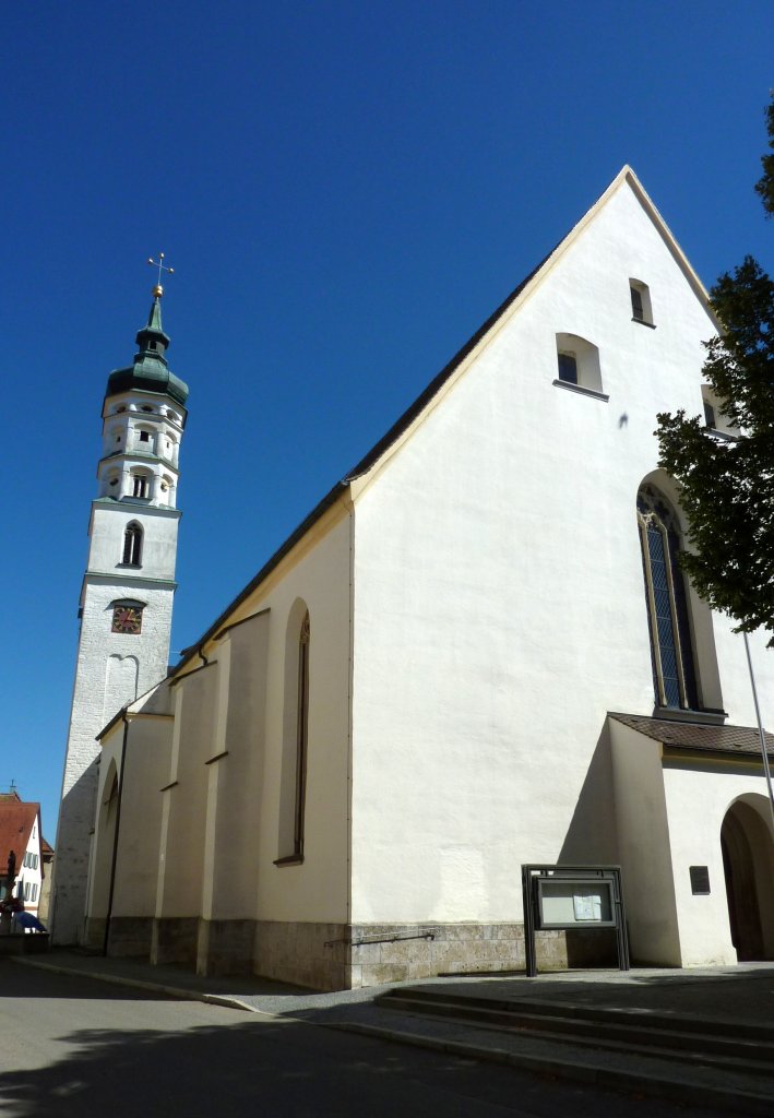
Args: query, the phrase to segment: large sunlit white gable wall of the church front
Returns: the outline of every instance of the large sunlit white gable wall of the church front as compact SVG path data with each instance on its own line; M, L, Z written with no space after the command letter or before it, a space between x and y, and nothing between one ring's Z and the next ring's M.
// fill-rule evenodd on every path
M553 383L561 332L608 401ZM653 711L635 496L712 333L624 184L357 499L355 920L520 919L521 863L615 858L605 714Z

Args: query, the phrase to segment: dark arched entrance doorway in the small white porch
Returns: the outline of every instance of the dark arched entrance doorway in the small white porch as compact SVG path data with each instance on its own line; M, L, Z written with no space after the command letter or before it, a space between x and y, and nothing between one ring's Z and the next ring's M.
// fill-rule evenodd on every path
M762 797L751 797L756 802ZM762 804L767 808L765 802ZM720 830L731 942L739 961L774 958L774 851L767 824L744 799Z

